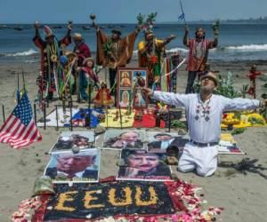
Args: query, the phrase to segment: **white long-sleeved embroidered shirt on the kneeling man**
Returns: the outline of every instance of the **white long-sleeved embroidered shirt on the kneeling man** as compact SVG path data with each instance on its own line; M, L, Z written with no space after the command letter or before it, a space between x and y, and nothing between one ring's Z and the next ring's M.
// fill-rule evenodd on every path
M201 101L199 94L154 91L153 98L169 105L185 107L190 139L198 143L219 142L224 111L255 109L260 105L260 101L256 99L229 99L214 94L205 103ZM207 107L209 114L203 114Z

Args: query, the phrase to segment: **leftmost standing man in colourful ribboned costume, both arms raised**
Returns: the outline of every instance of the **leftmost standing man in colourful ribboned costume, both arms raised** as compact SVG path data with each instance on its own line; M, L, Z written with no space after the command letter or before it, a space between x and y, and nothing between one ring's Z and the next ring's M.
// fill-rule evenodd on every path
M53 93L59 94L59 70L60 70L60 57L64 47L71 43L71 22L68 25L67 35L64 36L60 41L54 36L53 31L44 26L43 39L39 33L39 23L36 22L36 36L33 38L33 42L41 51L41 72L42 75L38 80L39 88L41 93L44 92L46 99L53 99Z

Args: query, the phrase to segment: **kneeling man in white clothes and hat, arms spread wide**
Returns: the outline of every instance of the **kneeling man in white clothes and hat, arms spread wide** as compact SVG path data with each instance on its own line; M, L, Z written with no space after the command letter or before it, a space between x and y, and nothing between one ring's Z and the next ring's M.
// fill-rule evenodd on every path
M217 169L217 156L221 122L224 111L251 110L266 107L267 99L229 99L213 92L218 80L213 73L202 75L200 92L194 94L175 94L172 92L152 91L143 88L153 99L169 105L185 107L189 125L190 142L183 149L178 170L188 172L197 170L202 177L211 176Z

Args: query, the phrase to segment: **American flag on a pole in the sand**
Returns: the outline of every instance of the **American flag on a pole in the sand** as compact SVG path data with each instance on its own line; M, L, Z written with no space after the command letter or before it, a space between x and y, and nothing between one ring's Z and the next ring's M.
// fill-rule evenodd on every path
M21 148L40 140L42 135L36 127L28 96L24 91L19 104L0 129L0 142Z

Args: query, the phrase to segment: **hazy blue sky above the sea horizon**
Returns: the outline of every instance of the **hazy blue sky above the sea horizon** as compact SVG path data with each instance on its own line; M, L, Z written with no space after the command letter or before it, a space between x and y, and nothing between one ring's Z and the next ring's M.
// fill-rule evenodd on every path
M186 20L226 20L267 15L266 0L182 0ZM177 21L179 0L0 0L4 23L135 23L136 15L158 12L157 21Z

